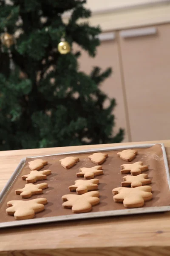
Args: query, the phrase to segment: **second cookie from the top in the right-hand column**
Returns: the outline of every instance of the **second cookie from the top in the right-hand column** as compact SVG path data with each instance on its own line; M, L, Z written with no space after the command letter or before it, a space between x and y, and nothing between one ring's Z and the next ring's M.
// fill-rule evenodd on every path
M143 162L136 162L131 164L126 163L122 164L120 167L122 169L122 174L131 173L131 175L139 175L141 172L148 170L148 166L144 166Z

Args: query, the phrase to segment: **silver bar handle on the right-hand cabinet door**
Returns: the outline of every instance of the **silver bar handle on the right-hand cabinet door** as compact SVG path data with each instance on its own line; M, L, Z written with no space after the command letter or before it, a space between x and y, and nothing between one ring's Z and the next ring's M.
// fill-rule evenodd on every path
M132 38L144 35L155 35L157 29L155 27L143 28L143 29L127 29L120 31L122 38Z

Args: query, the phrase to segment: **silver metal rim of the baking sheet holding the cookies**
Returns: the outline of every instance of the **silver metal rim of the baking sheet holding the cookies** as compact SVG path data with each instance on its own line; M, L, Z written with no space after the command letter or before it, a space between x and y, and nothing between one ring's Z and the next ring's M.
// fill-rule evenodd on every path
M118 146L118 147L107 147L107 148L98 148L98 149L91 149L91 150L82 150L82 151L71 151L66 153L60 154L52 154L52 155L43 155L37 157L30 157L30 158L38 158L38 157L51 157L57 155L68 155L68 154L82 154L82 153L93 153L93 152L103 152L103 151L114 151L114 150L124 150L129 148L150 148L156 144L142 144L142 145L126 145L126 146ZM167 155L165 151L164 144L160 143L163 159L164 159L164 166L166 170L167 176L167 184L170 190L170 172L169 166L167 162ZM17 169L14 171L11 178L8 180L6 186L0 193L0 204L3 201L6 193L10 189L12 183L20 174L21 170L23 169L24 164L26 163L26 158L22 159L17 166ZM61 202L62 204L62 202ZM165 212L169 211L170 206L161 206L161 207L142 207L142 208L133 208L133 209L118 209L118 210L111 210L111 211L98 211L98 212L88 212L88 213L80 213L80 214L70 214L70 215L61 215L61 216L52 216L52 217L42 217L42 218L34 218L22 221L8 221L8 222L1 222L0 228L4 227L15 227L15 226L22 226L22 225L30 225L30 224L40 224L40 223L50 223L56 221L67 221L67 220L77 220L77 219L84 219L84 218L98 218L98 217L108 217L108 216L116 216L116 215L130 215L130 214L139 214L139 213L149 213L149 212Z

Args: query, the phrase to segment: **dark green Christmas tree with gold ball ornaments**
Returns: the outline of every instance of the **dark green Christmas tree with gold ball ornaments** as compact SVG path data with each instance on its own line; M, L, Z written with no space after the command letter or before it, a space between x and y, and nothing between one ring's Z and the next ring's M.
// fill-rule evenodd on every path
M115 99L104 108L99 88L111 69L80 72L81 52L71 49L75 42L94 57L99 45L99 27L78 22L91 15L84 3L0 0L0 150L123 139L122 129L113 136Z

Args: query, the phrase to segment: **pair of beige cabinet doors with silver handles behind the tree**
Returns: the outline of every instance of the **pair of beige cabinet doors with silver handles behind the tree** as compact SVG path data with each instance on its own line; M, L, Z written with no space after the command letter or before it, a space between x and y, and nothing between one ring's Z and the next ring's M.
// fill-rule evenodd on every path
M106 32L100 39L96 57L81 50L79 65L87 73L112 67L101 89L117 102L114 131L124 128L125 142L169 139L170 24Z

